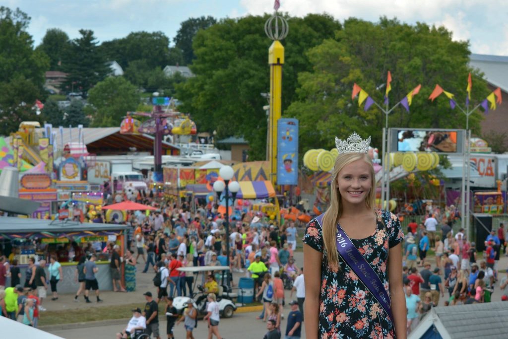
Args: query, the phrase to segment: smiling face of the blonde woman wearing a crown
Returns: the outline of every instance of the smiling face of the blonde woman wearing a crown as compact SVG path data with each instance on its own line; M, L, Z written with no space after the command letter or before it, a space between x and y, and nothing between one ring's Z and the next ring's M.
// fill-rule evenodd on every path
M339 172L337 187L342 204L357 205L365 203L372 189L371 167L364 160L357 160Z

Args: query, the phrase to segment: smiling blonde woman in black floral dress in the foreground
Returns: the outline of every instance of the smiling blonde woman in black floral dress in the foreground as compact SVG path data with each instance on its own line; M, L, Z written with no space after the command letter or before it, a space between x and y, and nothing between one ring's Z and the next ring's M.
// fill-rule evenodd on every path
M375 208L374 170L364 148L351 152L338 147L331 203L322 220L323 227L314 219L305 230L307 339L406 338L401 245L404 235L394 214ZM335 241L337 223L384 284L393 319L340 258Z

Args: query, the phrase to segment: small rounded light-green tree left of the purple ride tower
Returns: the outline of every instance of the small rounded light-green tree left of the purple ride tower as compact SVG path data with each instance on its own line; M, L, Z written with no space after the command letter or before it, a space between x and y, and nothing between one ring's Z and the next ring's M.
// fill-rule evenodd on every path
M88 103L93 105L91 126L119 126L125 113L135 110L139 101L136 86L128 80L123 77L106 78L88 93Z

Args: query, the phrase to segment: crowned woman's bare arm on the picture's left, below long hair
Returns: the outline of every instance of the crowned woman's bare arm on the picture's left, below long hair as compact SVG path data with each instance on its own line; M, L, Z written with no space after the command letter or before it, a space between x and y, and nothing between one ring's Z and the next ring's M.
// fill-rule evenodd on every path
M317 339L319 333L322 260L323 254L321 252L314 250L306 243L303 244L303 266L305 267L303 271L305 281L305 337L307 339Z

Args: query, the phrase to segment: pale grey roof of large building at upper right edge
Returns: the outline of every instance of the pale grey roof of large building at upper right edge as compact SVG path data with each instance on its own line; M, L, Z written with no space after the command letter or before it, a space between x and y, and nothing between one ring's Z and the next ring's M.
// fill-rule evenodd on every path
M471 54L469 65L482 71L491 85L508 92L508 56Z

